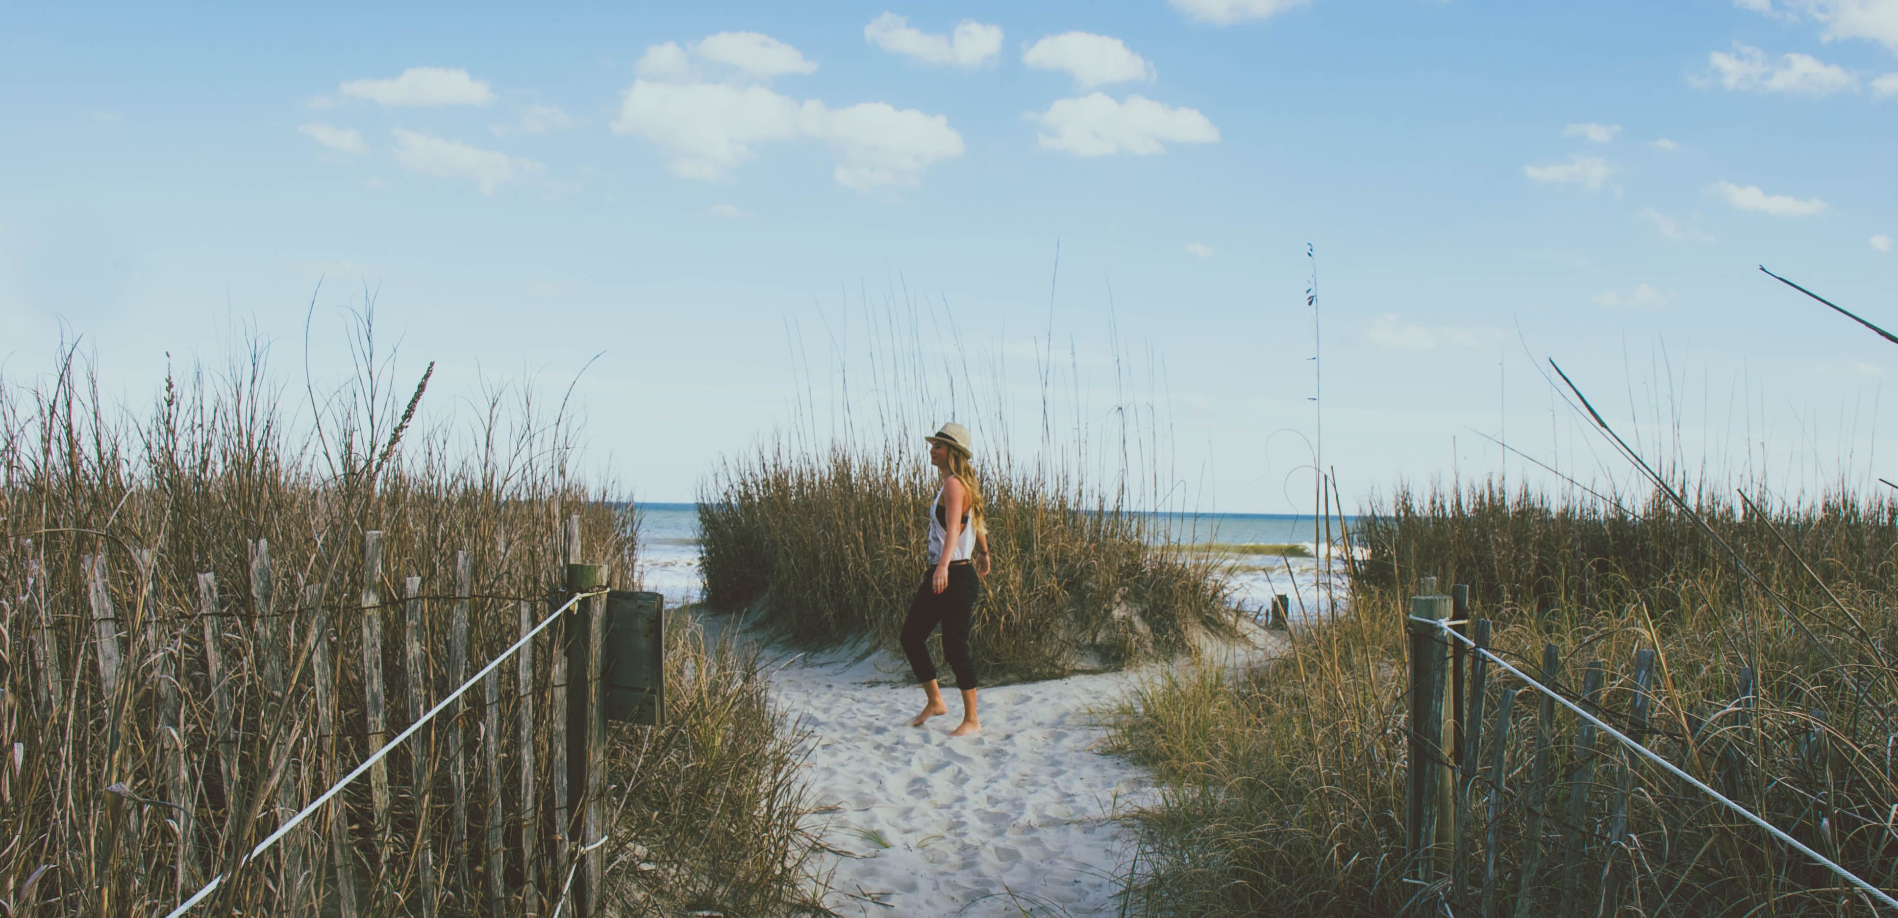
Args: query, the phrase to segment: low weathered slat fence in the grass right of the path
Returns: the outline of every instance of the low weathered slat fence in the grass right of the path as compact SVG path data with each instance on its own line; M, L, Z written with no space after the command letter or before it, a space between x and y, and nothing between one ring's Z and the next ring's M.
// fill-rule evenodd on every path
M1475 616L1467 586L1441 596L1435 578L1425 577L1422 594L1412 597L1408 622L1405 880L1416 886L1414 910L1431 912L1444 903L1450 914L1577 918L1615 916L1625 909L1653 914L1657 905L1668 905L1682 914L1703 914L1682 882L1695 865L1706 859L1716 876L1748 869L1731 833L1756 833L1763 844L1777 844L1710 795L1558 707L1551 694L1501 679L1507 673L1496 671L1488 656L1448 637L1446 630L1465 635L1475 649L1490 649L1492 624ZM1756 740L1748 734L1756 719L1752 670L1739 670L1731 702L1712 700L1682 713L1685 728L1666 730L1653 723L1659 692L1653 649L1636 649L1619 666L1587 660L1579 690L1572 671L1577 662L1547 643L1539 668L1528 660L1515 666L1630 742L1706 776L1721 795L1758 806L1767 787L1744 766L1752 755L1746 744ZM1835 778L1826 728L1818 711L1809 717L1816 721L1792 742L1811 776L1818 776L1813 783L1824 787ZM1832 829L1837 816L1820 795L1803 812L1775 812L1773 821L1811 838L1799 844L1841 857ZM1729 840L1721 842L1720 833L1729 833ZM1693 844L1684 844L1693 835L1699 835ZM1862 905L1868 914L1885 914L1822 865L1790 850L1780 861L1805 861L1807 890L1835 897L1837 905L1828 909ZM1642 901L1632 882L1636 872L1668 874L1672 899Z

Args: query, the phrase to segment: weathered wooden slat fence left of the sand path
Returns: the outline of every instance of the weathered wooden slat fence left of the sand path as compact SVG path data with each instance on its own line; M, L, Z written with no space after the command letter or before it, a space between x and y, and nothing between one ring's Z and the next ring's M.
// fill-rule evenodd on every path
M564 546L568 590L605 584L604 567L577 563L577 516ZM51 780L51 806L80 806L78 819L28 821L15 810L17 831L72 836L47 844L68 859L47 865L65 880L40 871L6 890L11 914L165 914L218 874L224 886L197 914L545 916L562 891L564 914L596 914L607 854L590 844L604 833L605 597L581 599L232 872L571 596L556 592L549 605L480 594L469 552L456 556L454 582L397 577L380 531L363 537L361 586L347 597L277 573L264 541L233 550L247 552L249 577L197 575L195 607L158 599L150 550L85 556L78 615L49 607L28 561L9 620L32 626L8 635L15 690L0 692L13 732L9 791L19 793L25 757L78 761L76 730L97 730L82 742L104 742L108 774ZM102 806L87 814L91 799Z

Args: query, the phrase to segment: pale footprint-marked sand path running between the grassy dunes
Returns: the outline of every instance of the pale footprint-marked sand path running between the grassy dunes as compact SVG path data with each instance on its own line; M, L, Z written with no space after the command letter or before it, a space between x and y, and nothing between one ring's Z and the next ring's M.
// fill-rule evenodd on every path
M733 616L700 618L708 635ZM1255 662L1281 637L1249 630L1205 652ZM981 688L981 736L951 738L949 713L909 726L922 690L900 654L852 645L816 654L761 645L778 707L809 732L807 780L831 859L828 907L843 916L1120 914L1133 829L1118 817L1154 800L1148 774L1099 751L1099 709L1150 664L1116 673ZM943 670L947 677L947 670Z

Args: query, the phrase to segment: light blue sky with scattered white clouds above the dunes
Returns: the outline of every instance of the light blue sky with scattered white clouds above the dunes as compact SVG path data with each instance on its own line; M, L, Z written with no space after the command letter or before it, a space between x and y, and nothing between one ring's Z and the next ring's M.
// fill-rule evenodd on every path
M1756 269L1898 324L1890 74L1898 0L8 4L0 358L80 334L142 402L249 326L300 383L315 300L334 379L372 290L437 412L604 351L590 455L674 501L791 423L791 330L816 389L869 379L865 305L909 296L962 391L1008 366L1015 442L1051 330L1063 412L1108 423L1118 349L1182 499L1289 512L1310 243L1348 497L1539 474L1479 431L1625 480L1549 357L1691 465L1894 478L1890 345Z

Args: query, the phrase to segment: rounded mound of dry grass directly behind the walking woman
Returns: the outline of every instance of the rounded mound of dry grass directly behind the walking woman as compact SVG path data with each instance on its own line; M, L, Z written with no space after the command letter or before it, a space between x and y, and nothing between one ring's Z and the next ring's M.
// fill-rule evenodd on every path
M698 499L708 601L763 599L765 622L799 641L869 635L894 649L932 561L938 478L921 442L761 450L721 467ZM1194 630L1230 624L1213 561L1150 544L1118 503L1006 455L983 455L977 474L995 561L970 637L985 681L1171 654Z

